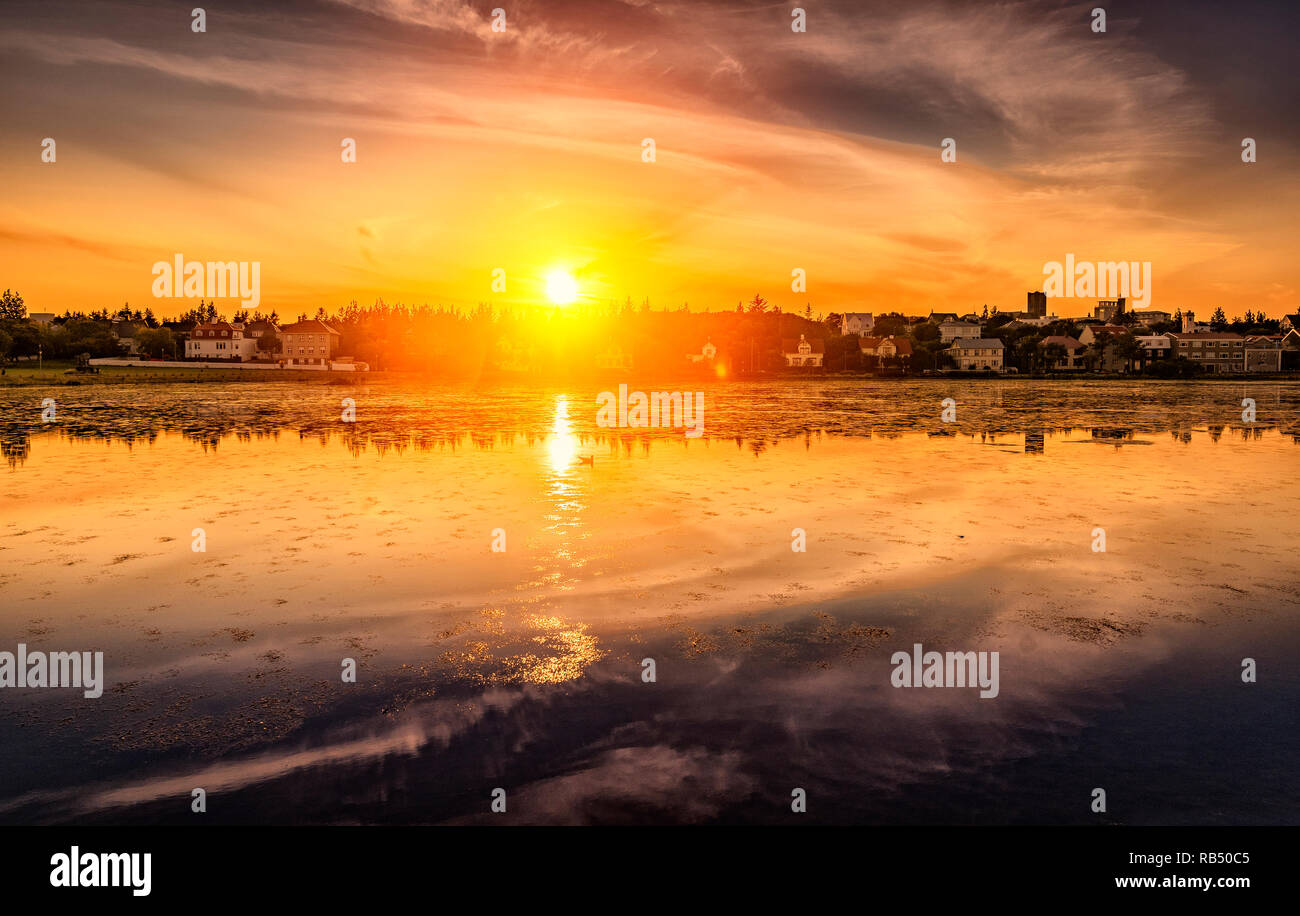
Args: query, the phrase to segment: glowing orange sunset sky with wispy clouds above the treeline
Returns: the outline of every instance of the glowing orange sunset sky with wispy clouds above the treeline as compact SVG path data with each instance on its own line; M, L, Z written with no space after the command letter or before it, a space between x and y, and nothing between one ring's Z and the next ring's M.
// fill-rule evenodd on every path
M588 300L923 314L1023 308L1074 253L1150 261L1153 308L1297 311L1284 112L1236 123L1135 21L807 4L793 34L771 5L575 3L500 34L490 5L235 4L192 34L173 5L20 4L0 287L176 314L151 266L181 252L260 261L282 316L540 301L555 268Z

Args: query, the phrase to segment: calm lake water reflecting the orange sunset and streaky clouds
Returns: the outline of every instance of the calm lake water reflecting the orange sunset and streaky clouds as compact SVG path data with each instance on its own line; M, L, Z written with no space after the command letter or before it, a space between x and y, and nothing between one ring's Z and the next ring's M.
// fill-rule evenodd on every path
M1300 383L688 385L0 388L0 820L1296 822Z

